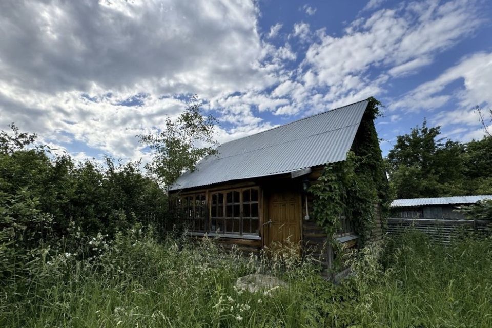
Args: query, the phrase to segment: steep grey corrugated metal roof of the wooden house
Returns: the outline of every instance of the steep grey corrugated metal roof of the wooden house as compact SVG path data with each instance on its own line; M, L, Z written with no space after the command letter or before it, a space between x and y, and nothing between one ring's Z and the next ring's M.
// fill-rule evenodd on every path
M201 160L171 190L248 179L346 159L368 101L305 117L220 145L217 156Z

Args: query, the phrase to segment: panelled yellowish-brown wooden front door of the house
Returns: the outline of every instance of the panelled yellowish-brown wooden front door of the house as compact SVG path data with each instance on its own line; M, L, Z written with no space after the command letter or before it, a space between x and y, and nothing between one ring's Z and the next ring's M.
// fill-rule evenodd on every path
M269 199L267 220L268 246L284 243L286 239L294 243L301 240L301 198L293 191L273 192Z

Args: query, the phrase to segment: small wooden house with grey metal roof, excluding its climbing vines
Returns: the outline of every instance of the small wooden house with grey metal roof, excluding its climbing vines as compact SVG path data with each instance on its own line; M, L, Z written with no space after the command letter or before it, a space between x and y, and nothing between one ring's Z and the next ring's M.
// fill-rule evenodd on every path
M308 189L324 165L344 161L366 142L364 129L375 131L374 116L364 115L369 104L359 101L220 145L217 155L170 188L175 213L191 235L207 234L255 253L289 238L330 266L333 254L312 217ZM353 222L340 220L336 237L355 245ZM379 224L375 235L380 233Z

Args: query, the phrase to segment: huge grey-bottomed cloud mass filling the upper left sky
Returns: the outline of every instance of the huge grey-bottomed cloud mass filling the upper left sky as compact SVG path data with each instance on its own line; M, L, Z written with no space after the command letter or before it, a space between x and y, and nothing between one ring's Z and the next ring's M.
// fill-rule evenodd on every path
M277 81L272 61L295 53L265 51L257 14L250 1L2 2L0 125L142 155L135 135L177 115L183 96L214 99Z

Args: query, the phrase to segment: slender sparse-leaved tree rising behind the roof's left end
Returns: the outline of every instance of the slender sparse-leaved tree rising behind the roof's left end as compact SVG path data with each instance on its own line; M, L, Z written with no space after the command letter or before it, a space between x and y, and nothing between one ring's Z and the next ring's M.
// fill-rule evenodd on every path
M186 170L194 171L200 159L216 154L216 124L215 117L202 114L194 95L177 120L166 118L160 133L139 136L140 142L153 150L153 160L146 168L166 187L171 186Z

